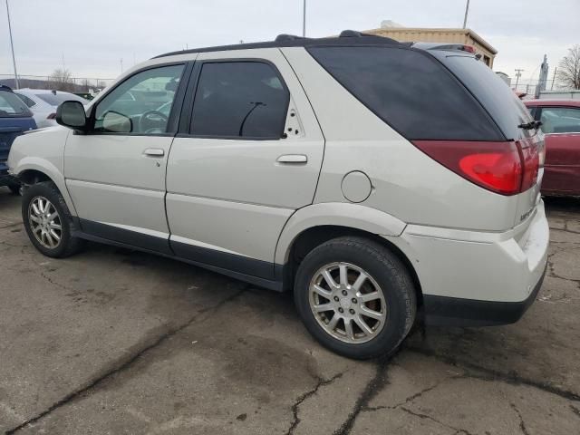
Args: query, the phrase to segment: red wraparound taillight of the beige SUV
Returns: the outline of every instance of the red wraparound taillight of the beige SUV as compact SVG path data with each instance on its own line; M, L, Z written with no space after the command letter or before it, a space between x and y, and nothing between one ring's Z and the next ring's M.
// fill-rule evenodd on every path
M517 195L537 179L538 152L519 142L416 140L417 148L464 179L501 195Z

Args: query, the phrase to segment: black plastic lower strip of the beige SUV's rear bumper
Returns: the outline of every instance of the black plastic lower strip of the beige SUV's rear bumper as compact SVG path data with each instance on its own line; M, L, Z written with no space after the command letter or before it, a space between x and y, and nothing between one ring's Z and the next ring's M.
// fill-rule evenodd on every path
M516 323L536 301L546 267L532 293L522 302L478 301L446 296L423 296L425 324L449 326L492 326Z

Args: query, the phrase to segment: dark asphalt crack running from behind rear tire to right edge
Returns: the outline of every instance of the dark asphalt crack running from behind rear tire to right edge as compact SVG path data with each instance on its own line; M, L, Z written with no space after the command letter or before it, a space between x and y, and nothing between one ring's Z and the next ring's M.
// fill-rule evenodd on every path
M424 349L420 347L405 347L405 350L413 353L419 353L423 356L435 358L449 365L463 368L466 371L475 371L475 372L465 372L462 375L462 377L473 378L488 382L500 381L505 382L509 385L526 385L528 387L533 387L541 391L549 392L550 394L555 394L556 396L560 396L568 401L580 401L580 394L578 394L575 391L564 390L547 382L528 379L523 376L520 376L519 374L517 374L517 372L507 372L507 373L499 372L498 370L489 369L488 367L483 367L478 364L474 364L473 362L459 361L453 357L441 355L440 353L437 353L430 349Z

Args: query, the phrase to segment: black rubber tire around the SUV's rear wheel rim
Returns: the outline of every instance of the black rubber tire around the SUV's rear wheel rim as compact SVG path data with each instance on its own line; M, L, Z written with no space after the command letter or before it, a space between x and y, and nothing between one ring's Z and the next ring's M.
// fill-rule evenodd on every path
M370 341L344 343L326 332L314 317L310 283L321 267L336 262L360 267L381 287L386 320ZM393 353L411 330L417 312L415 286L406 266L389 249L363 237L334 238L315 247L298 267L294 296L298 314L318 342L334 353L361 360Z

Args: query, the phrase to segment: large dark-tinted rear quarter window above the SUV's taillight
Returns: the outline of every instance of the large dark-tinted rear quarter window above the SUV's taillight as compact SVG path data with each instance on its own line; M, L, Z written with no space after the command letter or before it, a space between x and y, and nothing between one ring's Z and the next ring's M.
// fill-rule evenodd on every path
M473 96L425 53L392 47L308 51L354 97L409 140L504 140Z

